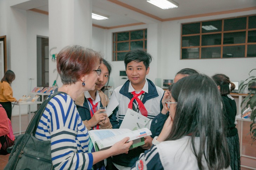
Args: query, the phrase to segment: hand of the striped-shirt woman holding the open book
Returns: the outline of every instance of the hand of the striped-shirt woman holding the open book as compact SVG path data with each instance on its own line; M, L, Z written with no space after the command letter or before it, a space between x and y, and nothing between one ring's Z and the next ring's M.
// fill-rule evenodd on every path
M128 154L129 148L133 144L133 141L127 142L129 139L129 137L123 138L121 141L116 142L111 148L109 148L112 150L112 156L123 153Z

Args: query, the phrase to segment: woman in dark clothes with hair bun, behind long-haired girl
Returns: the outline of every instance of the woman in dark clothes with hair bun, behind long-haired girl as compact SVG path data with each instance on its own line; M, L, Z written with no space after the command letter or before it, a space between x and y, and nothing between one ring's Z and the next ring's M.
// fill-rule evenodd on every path
M230 155L230 167L232 170L240 170L240 145L235 124L236 102L234 98L229 95L230 91L235 89L235 84L230 82L229 77L225 74L215 74L212 78L220 90L223 101L223 114L227 123L227 142ZM231 84L230 89L229 84Z

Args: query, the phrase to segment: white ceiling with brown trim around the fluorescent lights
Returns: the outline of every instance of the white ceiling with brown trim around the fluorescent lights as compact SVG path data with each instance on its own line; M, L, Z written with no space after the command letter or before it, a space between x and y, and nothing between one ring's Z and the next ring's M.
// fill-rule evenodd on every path
M161 9L147 0L92 0L93 12L108 15L108 20L93 20L93 24L102 27L115 27L133 23L155 23L164 19L200 15L207 13L224 12L242 8L256 8L256 0L175 0L178 8ZM30 3L30 4L29 4ZM14 7L21 9L37 8L48 11L48 0L31 0L26 4ZM36 6L38 4L38 6ZM125 6L125 7L123 7ZM128 9L132 8L132 9ZM136 8L136 9L135 9ZM139 10L139 12L136 12ZM141 14L141 13L147 13ZM151 15L151 16L150 16Z

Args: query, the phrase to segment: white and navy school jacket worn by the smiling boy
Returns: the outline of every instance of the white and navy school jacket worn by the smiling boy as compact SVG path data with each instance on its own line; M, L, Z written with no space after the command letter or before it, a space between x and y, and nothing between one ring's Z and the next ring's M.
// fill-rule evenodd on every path
M112 116L111 119L109 118L113 128L120 127L123 118L127 112L128 104L130 100L133 98L133 95L128 92L129 83L130 81L128 80L123 84L123 86L119 86L113 91L112 96L115 95L117 101L119 102L119 106L117 106L117 108L113 111L112 115L114 116ZM148 111L148 118L153 119L163 109L161 101L164 91L160 87L155 86L155 84L148 79L147 83L148 93L145 93L142 99L142 103L144 104L145 108ZM135 149L129 150L128 154L120 154L117 156L113 156L113 162L124 167L132 167L133 164L139 159L140 154L143 153L144 151L145 149L137 147Z

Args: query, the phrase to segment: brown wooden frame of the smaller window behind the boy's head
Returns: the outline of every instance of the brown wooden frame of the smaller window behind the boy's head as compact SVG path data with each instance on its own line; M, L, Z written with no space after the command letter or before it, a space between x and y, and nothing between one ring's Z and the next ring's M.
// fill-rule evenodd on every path
M143 30L143 39L133 39L131 40L131 32L133 31L142 31ZM121 60L117 60L117 52L129 52L131 51L131 42L135 42L135 41L143 41L143 50L147 51L147 49L145 49L145 41L147 40L147 38L145 38L145 30L147 30L147 28L144 29L137 29L137 30L130 30L130 31L121 31L121 32L113 32L112 34L112 61L121 61ZM117 41L117 34L118 33L123 33L123 32L129 32L129 40L124 40L124 41ZM114 35L115 35L115 39L114 39ZM125 43L125 42L129 42L129 50L124 50L124 51L117 51L117 43ZM114 50L114 44L115 44L115 50ZM114 56L115 54L115 56Z

